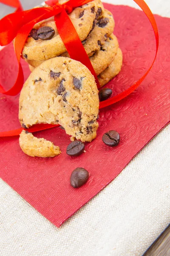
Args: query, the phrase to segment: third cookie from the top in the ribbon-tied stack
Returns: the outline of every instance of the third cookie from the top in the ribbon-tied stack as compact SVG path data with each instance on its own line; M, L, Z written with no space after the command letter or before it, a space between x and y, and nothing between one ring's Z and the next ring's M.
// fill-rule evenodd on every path
M115 58L118 48L119 43L117 41L117 38L115 35L112 34L107 38L105 44L100 47L100 50L96 51L94 55L90 57L91 64L94 67L97 76L111 64L111 62ZM42 63L42 61L27 62L32 67L37 67ZM30 67L31 71L33 70L32 67Z

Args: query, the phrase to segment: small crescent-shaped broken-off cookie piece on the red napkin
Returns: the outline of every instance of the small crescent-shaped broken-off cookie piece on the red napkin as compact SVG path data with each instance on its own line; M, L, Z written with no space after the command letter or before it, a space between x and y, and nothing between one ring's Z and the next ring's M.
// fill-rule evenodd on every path
M55 157L61 153L51 141L38 139L25 130L20 134L19 143L22 151L31 157Z

